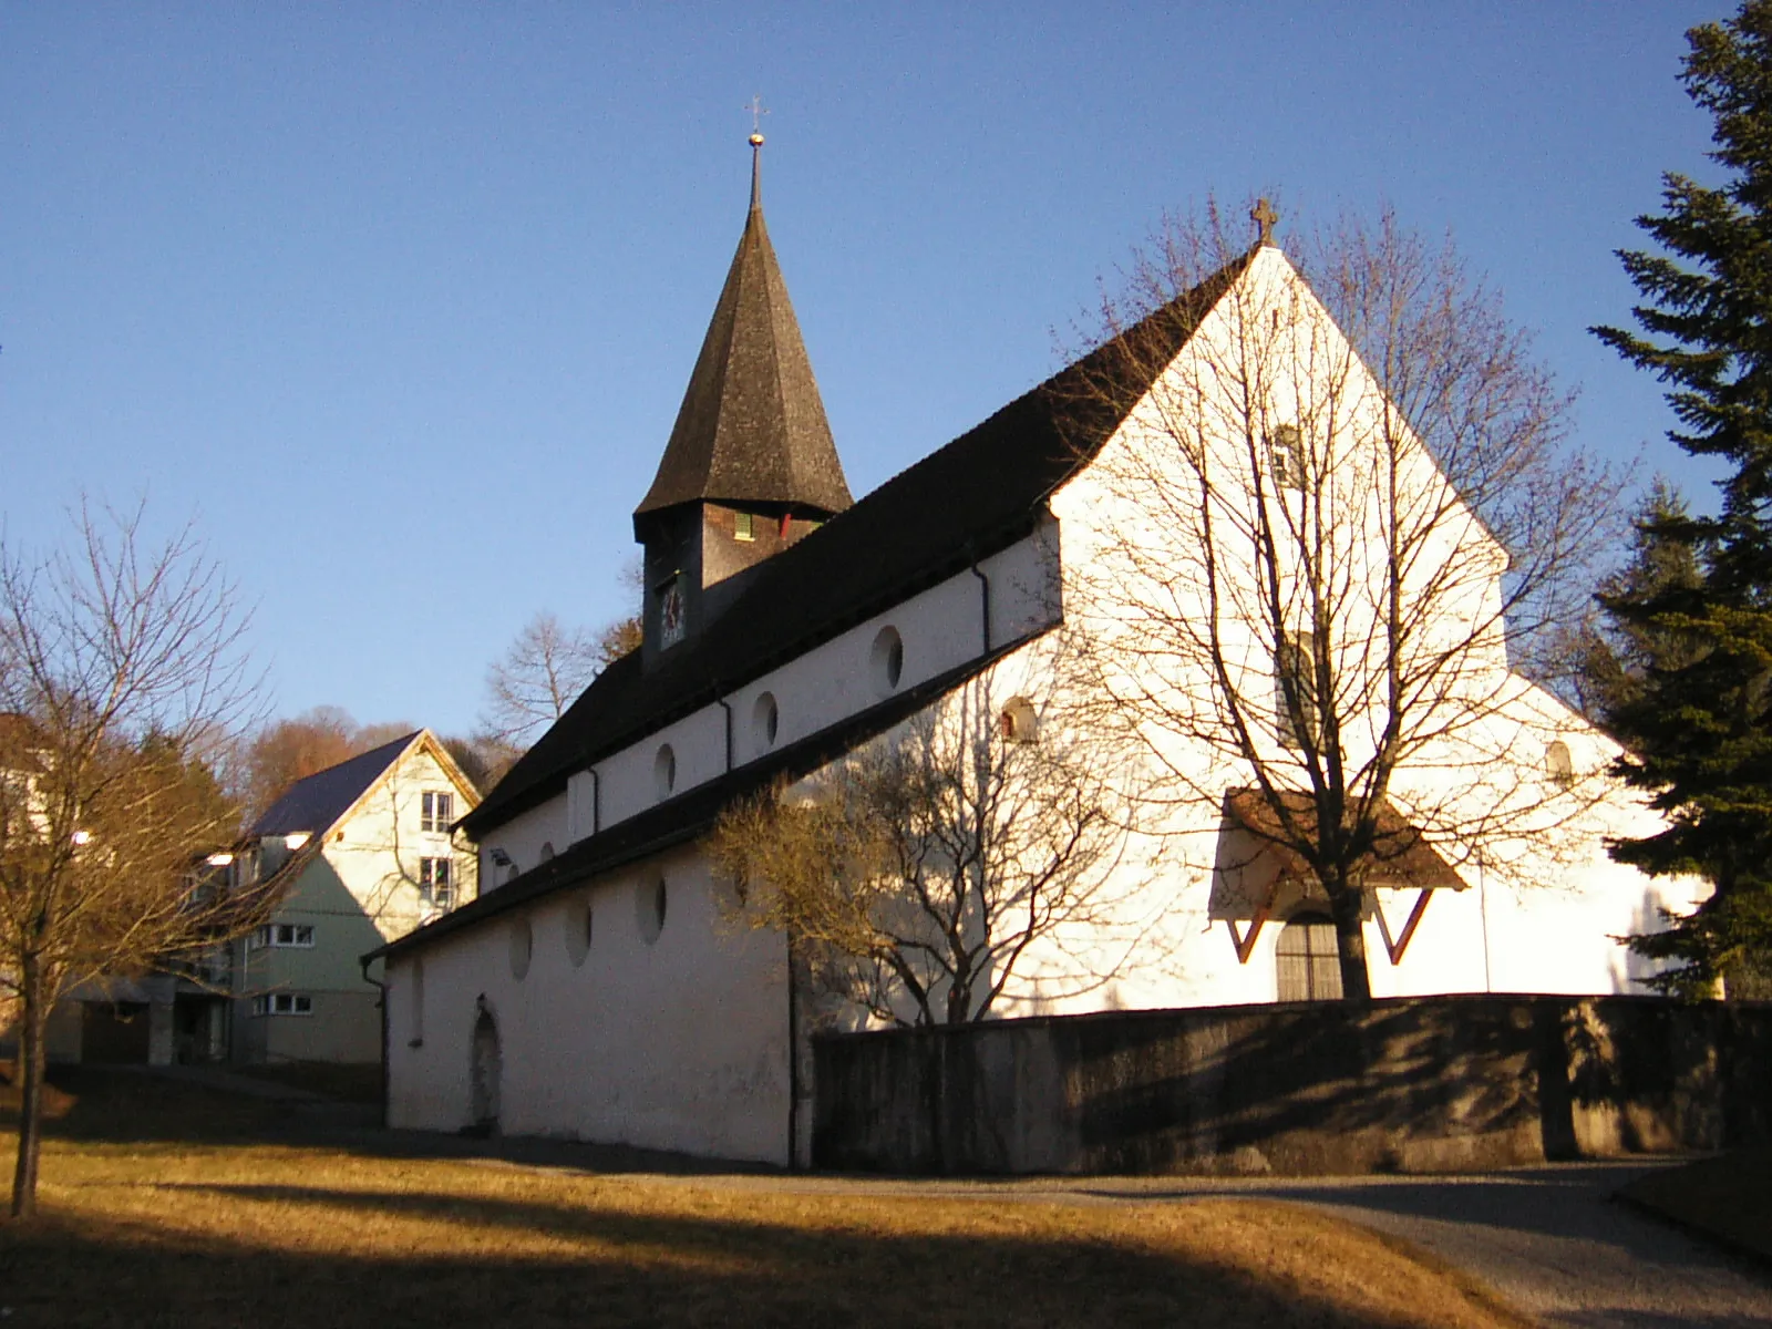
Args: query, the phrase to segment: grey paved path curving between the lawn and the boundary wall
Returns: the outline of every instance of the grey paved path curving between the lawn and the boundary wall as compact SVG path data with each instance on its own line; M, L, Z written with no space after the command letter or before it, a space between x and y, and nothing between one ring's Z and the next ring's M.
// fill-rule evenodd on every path
M1653 1166L1667 1164L1574 1162L1476 1177L898 1182L728 1175L695 1184L1060 1203L1260 1196L1313 1205L1416 1242L1547 1325L1772 1325L1772 1272L1611 1198Z

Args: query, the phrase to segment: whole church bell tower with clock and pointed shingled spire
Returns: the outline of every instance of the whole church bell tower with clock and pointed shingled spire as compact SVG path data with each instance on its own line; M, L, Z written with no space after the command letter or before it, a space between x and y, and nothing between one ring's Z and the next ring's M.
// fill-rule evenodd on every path
M741 578L854 500L776 262L751 135L751 207L677 424L634 509L643 663L700 633Z

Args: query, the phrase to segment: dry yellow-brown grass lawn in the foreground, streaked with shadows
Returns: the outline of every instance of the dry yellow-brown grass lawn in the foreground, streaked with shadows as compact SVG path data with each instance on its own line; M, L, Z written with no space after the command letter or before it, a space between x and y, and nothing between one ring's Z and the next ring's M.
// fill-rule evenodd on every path
M1396 1242L1286 1205L804 1194L154 1122L50 1141L43 1219L0 1221L7 1329L1520 1324Z

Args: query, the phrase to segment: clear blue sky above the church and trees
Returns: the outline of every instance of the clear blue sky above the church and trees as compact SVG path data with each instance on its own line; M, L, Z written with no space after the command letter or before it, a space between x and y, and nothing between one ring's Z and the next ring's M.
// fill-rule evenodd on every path
M1451 232L1703 498L1586 328L1710 177L1682 4L76 5L0 0L0 517L195 516L280 712L464 732L629 514L764 200L861 494L1058 367L1164 209ZM1285 241L1285 220L1279 229ZM1644 447L1646 445L1646 447Z

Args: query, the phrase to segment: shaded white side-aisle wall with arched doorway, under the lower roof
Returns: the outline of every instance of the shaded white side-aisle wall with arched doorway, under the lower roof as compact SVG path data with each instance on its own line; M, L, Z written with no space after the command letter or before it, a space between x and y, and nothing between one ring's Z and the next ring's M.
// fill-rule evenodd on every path
M666 920L649 944L636 891L659 872ZM592 944L574 964L567 929L587 904ZM530 969L516 978L510 936L525 923ZM468 1125L482 998L501 1040L505 1132L787 1161L785 946L723 921L695 851L507 911L390 966L393 1125Z

